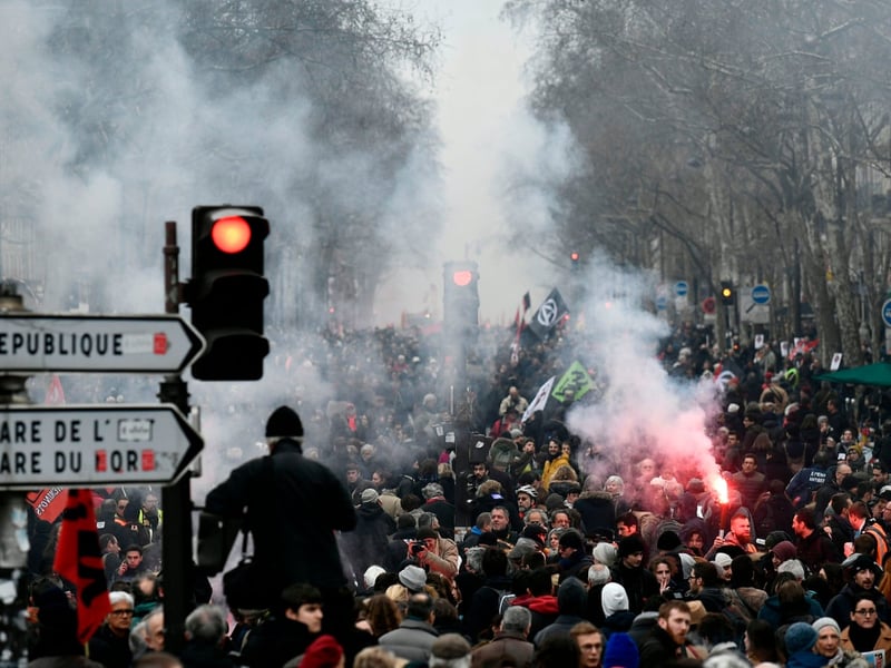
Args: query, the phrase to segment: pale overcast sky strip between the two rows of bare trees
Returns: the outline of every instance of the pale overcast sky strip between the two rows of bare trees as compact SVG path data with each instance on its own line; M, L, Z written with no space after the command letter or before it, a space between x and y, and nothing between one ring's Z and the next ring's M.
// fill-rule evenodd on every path
M481 317L496 324L512 321L526 291L535 306L554 287L552 268L530 252L535 230L546 224L544 206L511 186L518 173L537 173L542 148L552 151L554 138L525 108L522 68L530 39L498 18L500 8L491 0L417 4L419 18L435 21L443 33L441 69L430 94L442 141L446 224L430 273L420 279L398 276L384 288L403 291L408 311L441 313L442 263L450 259L479 263Z

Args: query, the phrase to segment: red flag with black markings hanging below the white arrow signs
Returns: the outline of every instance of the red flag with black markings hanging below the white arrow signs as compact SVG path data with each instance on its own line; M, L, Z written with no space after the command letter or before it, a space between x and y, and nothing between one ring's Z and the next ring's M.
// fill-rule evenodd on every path
M77 639L86 644L111 611L89 490L68 490L52 569L77 588Z

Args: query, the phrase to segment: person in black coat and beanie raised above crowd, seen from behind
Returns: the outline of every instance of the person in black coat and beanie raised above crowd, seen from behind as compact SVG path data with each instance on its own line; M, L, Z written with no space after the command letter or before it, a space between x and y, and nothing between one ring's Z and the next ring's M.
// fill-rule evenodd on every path
M317 587L325 600L325 626L350 628L352 606L343 609L346 584L334 534L356 525L344 483L325 465L303 456L303 424L287 406L266 423L270 455L236 468L208 492L205 511L241 520L254 539L256 578L248 607L272 607L295 582ZM256 603L265 603L256 606ZM232 605L232 602L231 602ZM237 606L234 607L244 607Z

